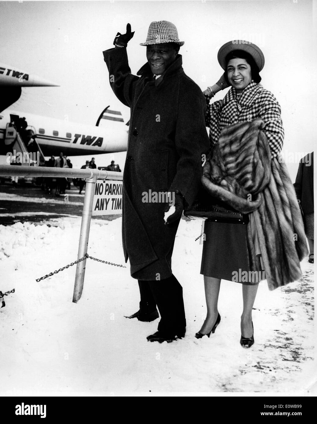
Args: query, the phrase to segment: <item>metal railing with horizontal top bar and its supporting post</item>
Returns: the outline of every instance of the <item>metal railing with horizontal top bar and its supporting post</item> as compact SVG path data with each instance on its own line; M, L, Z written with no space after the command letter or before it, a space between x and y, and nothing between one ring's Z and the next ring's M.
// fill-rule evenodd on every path
M81 217L81 228L79 236L78 257L80 259L87 255L90 221L93 212L93 196L97 179L122 181L122 172L101 171L98 169L76 169L76 168L50 168L37 166L12 166L0 165L0 177L65 177L84 178L86 180L84 206ZM76 265L76 276L74 284L73 302L77 303L81 298L84 287L84 276L86 269L86 257Z

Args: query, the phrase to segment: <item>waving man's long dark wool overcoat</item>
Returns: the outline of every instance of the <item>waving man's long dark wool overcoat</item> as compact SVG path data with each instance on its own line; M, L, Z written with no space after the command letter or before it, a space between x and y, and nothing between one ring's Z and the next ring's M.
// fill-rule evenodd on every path
M143 202L144 193L179 190L189 205L200 186L202 153L209 147L206 101L182 69L182 56L153 79L146 63L132 75L126 48L103 52L110 85L131 109L123 172L122 241L132 277L171 276L171 255L179 220L164 224L164 203ZM150 196L151 198L151 196Z

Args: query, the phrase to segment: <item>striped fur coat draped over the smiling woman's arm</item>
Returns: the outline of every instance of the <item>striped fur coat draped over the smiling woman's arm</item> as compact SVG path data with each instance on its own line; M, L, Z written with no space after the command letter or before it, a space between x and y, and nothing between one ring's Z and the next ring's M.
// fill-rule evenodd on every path
M264 122L236 123L222 129L209 153L202 184L211 195L256 223L269 290L298 280L300 261L308 254L303 220L286 165L271 157ZM247 224L248 261L261 272Z

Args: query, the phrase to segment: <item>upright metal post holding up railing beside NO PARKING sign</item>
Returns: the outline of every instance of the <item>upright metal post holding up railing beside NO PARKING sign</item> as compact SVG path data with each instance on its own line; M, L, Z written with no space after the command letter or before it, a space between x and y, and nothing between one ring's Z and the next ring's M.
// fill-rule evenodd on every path
M79 237L79 246L78 246L78 257L77 259L82 258L87 253L88 249L88 238L90 230L90 220L93 212L93 196L95 192L96 177L86 180L85 188L85 197L84 197L84 207L81 218L81 228L80 228L80 237ZM73 302L77 303L81 298L81 293L84 287L84 276L86 269L86 259L81 262L78 262L76 265L76 276L75 276L75 285L73 293Z

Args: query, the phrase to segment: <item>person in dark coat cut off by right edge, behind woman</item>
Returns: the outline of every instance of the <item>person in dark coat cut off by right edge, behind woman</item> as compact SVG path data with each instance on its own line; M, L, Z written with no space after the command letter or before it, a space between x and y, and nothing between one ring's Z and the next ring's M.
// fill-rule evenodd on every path
M314 152L300 159L294 188L304 215L308 262L314 263Z

